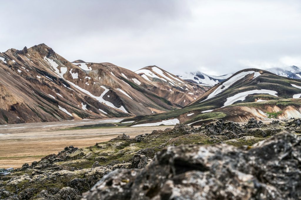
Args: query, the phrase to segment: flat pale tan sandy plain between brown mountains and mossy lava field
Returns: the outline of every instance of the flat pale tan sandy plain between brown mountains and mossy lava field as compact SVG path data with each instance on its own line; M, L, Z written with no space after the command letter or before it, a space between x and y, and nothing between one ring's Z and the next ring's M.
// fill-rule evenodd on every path
M57 154L64 147L87 147L96 142L108 141L126 133L135 137L153 130L164 130L168 127L125 127L99 128L81 130L60 130L86 124L118 122L121 119L64 121L47 123L30 123L0 125L0 168L21 167L31 164L49 154Z

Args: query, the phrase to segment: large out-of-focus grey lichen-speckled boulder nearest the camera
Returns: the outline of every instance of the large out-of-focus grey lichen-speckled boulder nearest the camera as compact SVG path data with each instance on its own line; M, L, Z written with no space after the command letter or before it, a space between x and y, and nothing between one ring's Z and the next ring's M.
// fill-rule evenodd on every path
M300 162L301 139L288 132L250 150L170 146L141 171L107 175L83 199L300 199Z

